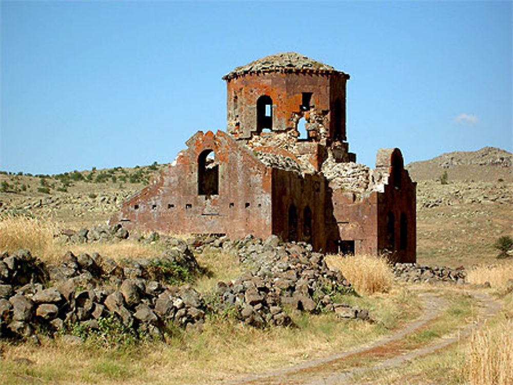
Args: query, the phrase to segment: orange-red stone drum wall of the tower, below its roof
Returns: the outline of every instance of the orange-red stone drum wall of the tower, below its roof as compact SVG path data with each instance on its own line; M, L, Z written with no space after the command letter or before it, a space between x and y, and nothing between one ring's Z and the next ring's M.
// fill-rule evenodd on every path
M257 100L262 95L272 99L272 129L295 129L298 116L326 115L326 137L332 136L334 103L341 100L340 138L345 139L345 85L342 73L282 73L246 74L228 79L227 130L239 139L248 139L257 132ZM311 92L314 109L302 111L303 92ZM295 116L295 121L294 121Z

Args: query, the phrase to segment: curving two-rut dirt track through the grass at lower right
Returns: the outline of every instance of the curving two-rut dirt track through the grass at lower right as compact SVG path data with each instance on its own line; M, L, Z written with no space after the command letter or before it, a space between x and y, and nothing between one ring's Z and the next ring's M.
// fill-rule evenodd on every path
M382 352L387 351L387 346L391 346L394 342L401 340L407 335L414 333L418 329L427 325L430 321L436 319L443 311L447 309L447 302L440 297L431 293L421 293L420 296L424 301L424 310L422 315L415 321L408 323L404 328L396 333L369 343L368 345L351 349L339 354L323 357L301 364L272 371L269 373L258 374L239 378L227 384L305 384L305 385L340 385L347 383L353 375L369 369L385 369L399 366L401 363L432 354L439 349L449 346L451 343L457 342L468 336L472 329L479 327L485 319L497 314L501 309L501 303L494 300L485 293L472 292L481 305L479 311L479 321L467 323L457 333L437 339L435 342L411 351L394 351L393 355L386 355L384 360L373 363L370 366L358 366L366 357L376 357ZM388 351L390 352L390 350ZM356 359L352 366L348 369L338 369L337 366L344 364L347 359Z

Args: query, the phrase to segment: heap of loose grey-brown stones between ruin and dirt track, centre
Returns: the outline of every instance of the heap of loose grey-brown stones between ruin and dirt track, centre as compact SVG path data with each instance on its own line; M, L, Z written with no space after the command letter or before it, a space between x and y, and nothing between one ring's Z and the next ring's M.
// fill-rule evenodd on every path
M218 309L233 309L236 316L255 327L287 326L287 311L336 312L342 318L369 319L366 309L333 301L337 293L352 292L340 272L328 269L324 256L308 244L283 244L271 235L265 241L246 236L234 242L217 242L239 256L249 271L235 280L218 283Z

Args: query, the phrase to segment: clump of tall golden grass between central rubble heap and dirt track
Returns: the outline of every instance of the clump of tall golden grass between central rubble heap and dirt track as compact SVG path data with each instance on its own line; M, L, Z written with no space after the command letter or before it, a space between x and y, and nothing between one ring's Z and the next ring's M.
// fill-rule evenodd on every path
M326 255L330 269L340 270L359 293L386 293L393 285L394 276L385 257L374 255Z

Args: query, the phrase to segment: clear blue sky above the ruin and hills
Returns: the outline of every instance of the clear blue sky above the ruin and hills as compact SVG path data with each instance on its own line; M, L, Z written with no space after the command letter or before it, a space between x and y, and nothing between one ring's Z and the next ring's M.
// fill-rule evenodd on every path
M361 163L511 151L511 4L2 1L0 169L168 163L225 129L221 76L285 51L351 75Z

